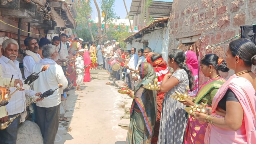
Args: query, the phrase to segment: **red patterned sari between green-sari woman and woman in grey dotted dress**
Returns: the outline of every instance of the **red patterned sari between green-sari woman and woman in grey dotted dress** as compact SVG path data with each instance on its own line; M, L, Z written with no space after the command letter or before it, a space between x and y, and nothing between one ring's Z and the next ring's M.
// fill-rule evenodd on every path
M152 64L151 62L151 56L154 53L149 53L147 55L147 62ZM156 76L158 79L158 84L161 84L163 77L169 73L169 69L167 67L166 61L163 60L163 58L159 58L155 60L152 64L154 67L154 70L156 72ZM160 120L161 120L161 112L162 112L162 103L163 103L163 98L165 96L165 93L157 93L156 100L157 100L157 121L155 123L154 127L154 135L152 138L152 143L155 144L157 143L158 140L158 134L159 134L159 127L160 127Z

